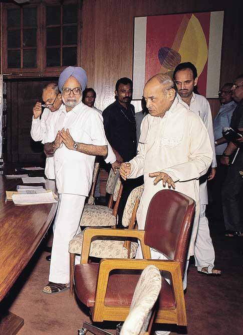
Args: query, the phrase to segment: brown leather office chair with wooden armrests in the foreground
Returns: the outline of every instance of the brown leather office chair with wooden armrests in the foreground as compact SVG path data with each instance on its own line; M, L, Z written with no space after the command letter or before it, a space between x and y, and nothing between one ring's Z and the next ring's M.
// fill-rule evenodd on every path
M163 280L163 295L155 322L186 325L182 277L184 275L195 202L173 190L156 193L149 205L145 230L102 230L102 236L138 238L144 259L103 259L88 264L89 248L83 247L81 264L75 266L74 282L77 297L90 308L93 321L123 321L129 313L139 274L153 264L171 276L171 285ZM90 246L97 229L85 230L83 246ZM150 260L150 247L170 260ZM125 273L117 269L126 270ZM130 270L130 271L128 271Z

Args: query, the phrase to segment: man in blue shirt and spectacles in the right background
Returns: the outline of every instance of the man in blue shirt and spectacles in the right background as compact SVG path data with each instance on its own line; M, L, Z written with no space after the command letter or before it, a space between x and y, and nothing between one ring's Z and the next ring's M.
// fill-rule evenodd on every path
M224 179L227 173L227 167L220 163L221 155L227 147L227 141L222 137L223 128L230 126L230 120L235 107L236 102L233 101L231 95L232 83L225 83L220 91L218 92L218 98L221 103L221 107L213 122L213 134L215 139L215 153L217 161L217 173L214 179L208 184L212 194L213 204L213 215L216 220L223 220L222 216L222 203L221 203L221 189Z

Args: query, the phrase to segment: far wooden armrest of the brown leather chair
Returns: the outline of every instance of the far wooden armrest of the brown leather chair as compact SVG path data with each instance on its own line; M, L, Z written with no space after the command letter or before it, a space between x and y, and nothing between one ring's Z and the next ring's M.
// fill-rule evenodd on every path
M144 231L130 230L130 229L110 229L110 228L86 228L84 230L84 238L81 252L81 264L88 263L90 245L93 237L107 236L107 237L124 237L136 238L140 241L143 257L150 259L150 248L144 243Z

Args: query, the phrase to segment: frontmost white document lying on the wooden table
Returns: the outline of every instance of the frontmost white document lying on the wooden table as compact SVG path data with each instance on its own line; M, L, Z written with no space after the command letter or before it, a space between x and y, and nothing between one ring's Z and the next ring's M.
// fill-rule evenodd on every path
M35 205L39 203L57 202L52 192L42 194L13 194L12 199L16 205Z

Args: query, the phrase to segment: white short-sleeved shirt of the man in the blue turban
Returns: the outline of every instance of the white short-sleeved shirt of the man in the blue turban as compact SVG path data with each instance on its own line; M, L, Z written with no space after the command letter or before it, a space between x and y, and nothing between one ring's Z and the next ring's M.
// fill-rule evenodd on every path
M48 125L45 143L53 142L59 130L69 129L75 142L107 145L104 126L93 110L80 102L68 113L62 105ZM59 194L88 196L92 183L95 156L68 149L64 143L54 153L56 185Z

